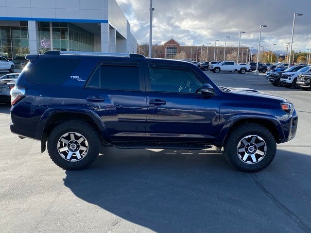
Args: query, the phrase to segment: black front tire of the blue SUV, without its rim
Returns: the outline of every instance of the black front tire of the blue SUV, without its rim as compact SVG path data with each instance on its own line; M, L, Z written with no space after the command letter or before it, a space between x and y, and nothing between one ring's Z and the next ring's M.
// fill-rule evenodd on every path
M242 162L237 153L240 140L247 135L258 135L266 143L266 153L264 157L255 164ZM276 139L265 127L255 123L245 123L234 128L225 140L225 158L231 166L244 172L257 172L263 170L271 164L276 155Z

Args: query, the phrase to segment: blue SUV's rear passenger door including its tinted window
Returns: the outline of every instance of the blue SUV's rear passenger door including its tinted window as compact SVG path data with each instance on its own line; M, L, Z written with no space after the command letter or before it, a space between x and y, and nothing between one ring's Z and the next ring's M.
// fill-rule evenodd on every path
M110 139L145 136L147 104L140 63L101 62L82 91L81 108L101 118Z

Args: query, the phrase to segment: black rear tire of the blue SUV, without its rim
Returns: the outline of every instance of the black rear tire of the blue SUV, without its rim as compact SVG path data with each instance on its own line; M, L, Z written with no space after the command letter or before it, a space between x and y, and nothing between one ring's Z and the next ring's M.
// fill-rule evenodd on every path
M58 152L57 143L65 133L76 132L83 135L88 142L86 156L76 162L70 162L61 157ZM101 147L99 133L88 123L80 120L69 120L57 125L47 140L48 153L52 161L65 170L80 170L90 166L97 156Z

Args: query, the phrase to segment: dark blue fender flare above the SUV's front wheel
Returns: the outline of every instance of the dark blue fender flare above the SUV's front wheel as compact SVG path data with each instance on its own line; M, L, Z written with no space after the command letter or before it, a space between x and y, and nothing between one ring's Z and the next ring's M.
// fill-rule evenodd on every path
M276 127L277 133L279 135L279 142L283 141L285 138L284 132L282 130L281 123L276 118L276 116L271 115L256 115L256 114L239 114L235 116L231 116L224 124L223 128L221 129L221 132L218 134L217 141L220 143L224 143L225 138L229 131L232 129L232 126L238 122L239 120L246 120L246 119L260 119L260 120L267 120L273 123Z

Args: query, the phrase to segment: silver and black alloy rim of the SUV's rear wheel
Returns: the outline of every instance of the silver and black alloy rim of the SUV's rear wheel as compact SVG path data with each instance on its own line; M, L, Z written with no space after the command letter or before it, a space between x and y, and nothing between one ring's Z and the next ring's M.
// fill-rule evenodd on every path
M66 161L77 162L86 157L88 152L88 142L80 133L65 133L57 142L57 151Z

